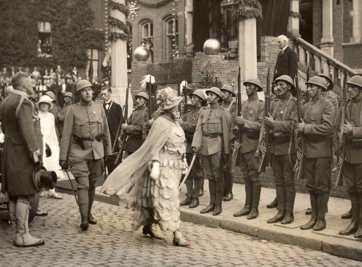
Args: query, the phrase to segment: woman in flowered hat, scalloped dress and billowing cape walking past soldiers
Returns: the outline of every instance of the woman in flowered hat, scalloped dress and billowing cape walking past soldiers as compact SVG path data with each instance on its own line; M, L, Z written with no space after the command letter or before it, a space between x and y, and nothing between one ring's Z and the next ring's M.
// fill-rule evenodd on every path
M152 228L157 223L161 230L173 232L174 245L189 246L180 232L178 186L187 170L185 133L177 122L181 99L171 88L161 90L157 96L160 116L147 139L109 175L101 192L134 209L133 230L143 226L143 234L161 239Z

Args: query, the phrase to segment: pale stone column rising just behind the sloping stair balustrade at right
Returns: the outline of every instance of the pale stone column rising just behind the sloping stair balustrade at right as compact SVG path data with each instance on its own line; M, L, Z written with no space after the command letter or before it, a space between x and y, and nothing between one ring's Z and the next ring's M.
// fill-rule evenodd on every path
M320 40L320 50L333 57L333 0L323 0L322 10L322 38Z

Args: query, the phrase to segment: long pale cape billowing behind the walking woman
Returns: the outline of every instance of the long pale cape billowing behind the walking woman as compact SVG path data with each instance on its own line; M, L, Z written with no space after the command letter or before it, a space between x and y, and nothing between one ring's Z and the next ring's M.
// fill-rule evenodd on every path
M114 196L131 206L136 198L136 185L139 179L145 172L149 172L149 162L157 153L160 153L171 134L172 127L173 123L170 120L159 116L152 123L150 133L142 146L112 171L100 192L110 195L112 199Z

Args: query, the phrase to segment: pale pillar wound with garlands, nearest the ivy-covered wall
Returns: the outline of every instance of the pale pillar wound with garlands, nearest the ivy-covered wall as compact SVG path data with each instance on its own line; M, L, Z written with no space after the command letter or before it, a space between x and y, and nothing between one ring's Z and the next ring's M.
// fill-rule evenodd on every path
M114 0L117 3L125 4L125 0ZM117 9L111 9L111 16L118 18L120 21L126 23L126 16ZM118 27L111 26L111 32L122 33L123 31ZM121 107L126 103L126 90L127 90L127 42L117 39L111 42L111 83L112 83L112 97L119 100ZM128 97L128 114L133 110L133 99L131 93Z

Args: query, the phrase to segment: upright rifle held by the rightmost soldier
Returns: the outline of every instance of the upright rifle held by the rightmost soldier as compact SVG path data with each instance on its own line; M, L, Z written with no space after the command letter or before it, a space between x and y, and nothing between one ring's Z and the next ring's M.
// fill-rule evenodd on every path
M347 141L347 135L344 133L344 122L347 118L347 71L344 70L344 77L343 77L343 109L342 109L342 118L341 118L341 132L340 132L340 138L338 142L338 153L337 153L337 162L338 167L337 170L334 170L334 173L338 171L337 179L336 179L336 186L342 186L343 185L343 162L344 158L346 156L346 141ZM342 159L342 162L340 163L340 159Z

